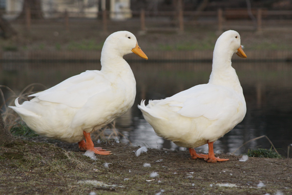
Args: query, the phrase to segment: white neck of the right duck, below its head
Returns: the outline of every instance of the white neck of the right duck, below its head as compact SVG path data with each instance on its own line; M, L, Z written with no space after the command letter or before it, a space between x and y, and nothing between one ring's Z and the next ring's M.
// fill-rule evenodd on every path
M212 73L209 84L232 88L243 95L235 69L231 66L233 52L227 48L216 48L213 53Z

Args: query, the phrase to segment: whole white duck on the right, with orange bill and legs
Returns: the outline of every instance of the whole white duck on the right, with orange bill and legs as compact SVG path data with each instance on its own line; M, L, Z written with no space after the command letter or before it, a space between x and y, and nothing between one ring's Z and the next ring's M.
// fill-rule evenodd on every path
M217 40L213 66L207 84L197 85L164 100L144 101L138 105L146 121L157 135L189 148L193 159L207 162L227 161L215 158L213 142L240 123L246 104L231 57L237 53L246 58L240 45L239 33L224 32ZM208 144L208 154L197 154L195 149Z

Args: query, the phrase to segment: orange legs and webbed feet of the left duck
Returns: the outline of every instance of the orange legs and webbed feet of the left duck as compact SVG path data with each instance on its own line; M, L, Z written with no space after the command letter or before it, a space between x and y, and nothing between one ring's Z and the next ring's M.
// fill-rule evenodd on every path
M100 155L112 154L111 151L106 151L105 149L102 149L100 147L94 147L94 144L93 144L93 142L91 140L90 133L87 133L87 132L83 131L83 134L85 136L85 140L86 141L82 140L82 141L78 142L80 150L82 150L82 151L92 150L92 151L94 151L94 153L100 154Z

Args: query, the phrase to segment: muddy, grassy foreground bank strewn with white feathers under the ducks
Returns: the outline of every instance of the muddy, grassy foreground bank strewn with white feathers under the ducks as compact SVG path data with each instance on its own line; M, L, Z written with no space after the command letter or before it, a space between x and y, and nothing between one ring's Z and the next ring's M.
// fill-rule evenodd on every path
M113 154L92 160L77 144L41 136L1 146L0 194L292 194L291 159L240 162L218 154L230 161L213 164L191 159L188 151L148 149L136 157L139 147L94 143Z

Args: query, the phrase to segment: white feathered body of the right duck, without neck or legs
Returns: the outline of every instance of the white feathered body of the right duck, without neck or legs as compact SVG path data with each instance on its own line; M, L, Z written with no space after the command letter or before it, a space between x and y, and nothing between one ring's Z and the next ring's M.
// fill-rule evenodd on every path
M158 136L187 148L215 142L246 112L243 96L212 84L197 85L147 106L143 102L139 108Z

